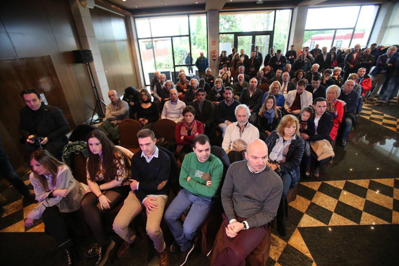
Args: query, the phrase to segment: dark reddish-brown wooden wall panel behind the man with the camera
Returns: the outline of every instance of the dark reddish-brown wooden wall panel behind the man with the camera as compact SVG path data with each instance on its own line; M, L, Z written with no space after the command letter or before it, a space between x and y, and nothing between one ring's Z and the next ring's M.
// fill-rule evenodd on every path
M35 87L40 93L44 93L47 102L61 108L71 128L74 127L69 106L49 55L0 59L0 84L2 84L0 119L8 135L11 136L14 146L20 148L21 154L24 152L20 145L21 135L18 133L18 126L19 110L25 106L20 97L22 89Z

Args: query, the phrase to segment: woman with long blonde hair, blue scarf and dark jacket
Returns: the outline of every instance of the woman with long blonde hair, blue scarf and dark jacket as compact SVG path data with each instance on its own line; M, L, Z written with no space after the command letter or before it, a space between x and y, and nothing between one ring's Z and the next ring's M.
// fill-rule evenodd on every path
M277 128L281 117L281 111L276 107L276 97L268 95L258 114L259 138L266 140L270 133Z

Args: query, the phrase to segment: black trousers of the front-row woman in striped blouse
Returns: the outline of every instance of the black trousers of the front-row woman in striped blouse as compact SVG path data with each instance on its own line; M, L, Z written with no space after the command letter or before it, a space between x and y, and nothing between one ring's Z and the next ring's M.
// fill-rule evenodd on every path
M41 215L44 223L44 232L55 240L59 248L65 250L72 246L71 233L68 233L67 224L71 220L79 219L77 211L60 213L57 206L47 207Z

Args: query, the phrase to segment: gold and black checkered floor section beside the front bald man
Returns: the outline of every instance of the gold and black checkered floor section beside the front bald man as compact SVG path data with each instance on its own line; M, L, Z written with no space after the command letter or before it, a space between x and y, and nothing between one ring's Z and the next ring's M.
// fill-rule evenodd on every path
M399 178L301 182L289 205L287 236L273 229L268 265L291 265L292 254L297 265L316 265L298 229L399 224Z

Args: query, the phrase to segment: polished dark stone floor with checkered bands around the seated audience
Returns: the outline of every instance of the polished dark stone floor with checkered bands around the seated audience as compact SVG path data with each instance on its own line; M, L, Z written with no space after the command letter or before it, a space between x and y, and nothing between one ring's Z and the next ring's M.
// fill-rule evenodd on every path
M289 203L287 235L280 237L272 230L267 265L397 265L398 121L397 104L363 106L346 148L337 144L332 164L321 169L320 177L298 184L297 198ZM43 233L41 220L24 228L26 214L35 205L26 206L13 187L2 190L1 201L6 213L0 219L0 265L62 265L61 253ZM118 246L120 240L113 238ZM90 243L83 238L79 244L84 250ZM105 265L157 265L148 239L120 260L116 249ZM171 265L174 262L171 256ZM78 265L92 264L82 259ZM207 264L197 249L187 265Z

